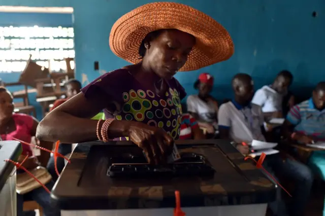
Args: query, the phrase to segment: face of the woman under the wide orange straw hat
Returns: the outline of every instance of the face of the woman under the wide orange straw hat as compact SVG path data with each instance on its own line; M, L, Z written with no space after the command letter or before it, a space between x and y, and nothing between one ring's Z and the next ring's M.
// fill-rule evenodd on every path
M172 79L184 66L187 56L195 45L193 35L176 29L162 31L157 38L145 43L144 61L164 79Z

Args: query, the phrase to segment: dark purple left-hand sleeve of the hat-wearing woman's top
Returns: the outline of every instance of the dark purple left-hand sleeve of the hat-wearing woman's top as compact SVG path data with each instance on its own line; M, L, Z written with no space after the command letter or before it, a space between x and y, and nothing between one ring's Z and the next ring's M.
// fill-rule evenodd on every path
M81 89L87 99L105 98L105 100L120 100L120 92L128 86L129 74L125 69L117 69L95 79ZM102 101L99 101L99 103Z

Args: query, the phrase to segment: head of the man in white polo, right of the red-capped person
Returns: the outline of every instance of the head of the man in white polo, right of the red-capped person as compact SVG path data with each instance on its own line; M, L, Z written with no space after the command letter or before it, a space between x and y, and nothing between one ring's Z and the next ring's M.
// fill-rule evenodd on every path
M254 83L247 74L237 74L232 80L235 98L240 103L248 103L254 96Z

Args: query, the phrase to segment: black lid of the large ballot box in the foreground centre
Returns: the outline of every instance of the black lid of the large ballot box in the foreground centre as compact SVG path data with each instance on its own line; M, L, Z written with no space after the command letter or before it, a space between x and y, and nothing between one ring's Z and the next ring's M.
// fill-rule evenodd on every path
M228 140L177 140L178 151L203 155L215 170L210 177L114 178L107 174L112 156L141 149L129 141L79 143L56 182L51 198L62 210L182 207L268 203L276 185L244 160Z

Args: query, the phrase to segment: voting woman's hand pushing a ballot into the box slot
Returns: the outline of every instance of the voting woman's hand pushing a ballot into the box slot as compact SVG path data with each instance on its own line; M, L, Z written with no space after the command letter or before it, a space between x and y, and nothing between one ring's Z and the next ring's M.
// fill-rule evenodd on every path
M173 151L174 139L163 129L132 122L128 137L145 152L151 164L165 163Z

